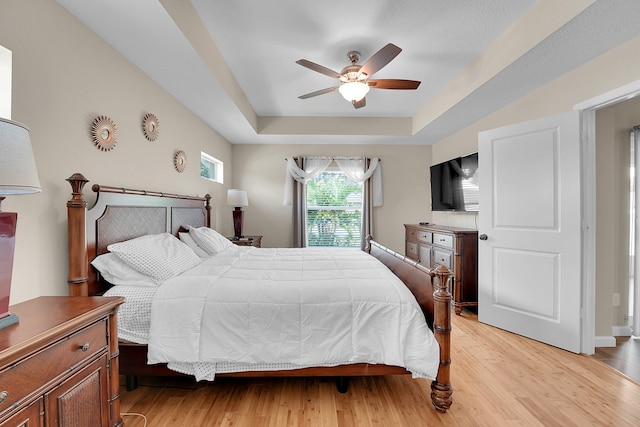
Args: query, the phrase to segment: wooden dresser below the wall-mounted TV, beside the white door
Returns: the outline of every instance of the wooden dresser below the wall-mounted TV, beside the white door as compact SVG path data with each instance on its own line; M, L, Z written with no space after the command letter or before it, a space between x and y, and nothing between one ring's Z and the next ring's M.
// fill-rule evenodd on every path
M453 306L478 305L478 231L444 225L405 224L405 256L426 267L443 264L453 272Z

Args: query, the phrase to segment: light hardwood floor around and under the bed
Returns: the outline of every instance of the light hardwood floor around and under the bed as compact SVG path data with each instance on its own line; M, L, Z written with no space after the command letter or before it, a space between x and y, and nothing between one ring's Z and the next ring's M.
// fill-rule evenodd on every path
M121 390L122 412L148 426L640 426L640 384L575 355L454 316L453 406L436 412L429 381L356 378L340 394L328 378L142 378ZM139 417L123 416L127 427Z

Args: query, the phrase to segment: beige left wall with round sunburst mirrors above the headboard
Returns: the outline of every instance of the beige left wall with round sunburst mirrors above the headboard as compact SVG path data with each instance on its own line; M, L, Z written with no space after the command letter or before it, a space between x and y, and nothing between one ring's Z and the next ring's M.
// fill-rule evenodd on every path
M12 119L31 130L43 189L2 204L18 212L12 304L67 293L65 178L74 172L91 183L210 193L214 201L226 194L231 169L225 185L202 180L199 156L204 150L230 165L231 145L55 1L0 2L0 45L13 52ZM141 131L147 112L160 122L155 142ZM110 117L118 129L110 152L91 143L90 124L98 115ZM188 156L182 174L173 168L176 149ZM214 225L228 223L231 230L230 213L215 209ZM229 221L219 219L227 216Z

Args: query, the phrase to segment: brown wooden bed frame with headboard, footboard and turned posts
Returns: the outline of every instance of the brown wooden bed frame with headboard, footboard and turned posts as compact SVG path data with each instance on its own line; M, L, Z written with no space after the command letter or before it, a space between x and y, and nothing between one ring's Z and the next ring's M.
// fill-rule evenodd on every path
M69 295L92 296L106 291L104 282L90 266L91 260L107 252L111 243L134 237L169 232L176 234L180 227L210 226L211 197L181 196L93 185L96 202L87 209L82 190L89 182L76 173L67 181L72 197L67 202ZM368 252L391 269L411 290L425 313L429 327L440 345L440 366L436 380L431 383L431 400L436 410L446 412L451 406L450 333L451 294L448 281L451 272L444 268L429 269L369 240ZM432 278L435 277L435 280ZM127 388L135 387L135 378L143 376L182 375L166 365L147 365L147 346L130 342L119 343L119 372L127 377ZM336 367L311 367L297 370L239 372L220 376L328 376L338 378L338 388L346 390L346 377L369 375L410 374L398 366L354 364ZM119 412L115 381L113 409ZM113 389L113 387L112 387Z

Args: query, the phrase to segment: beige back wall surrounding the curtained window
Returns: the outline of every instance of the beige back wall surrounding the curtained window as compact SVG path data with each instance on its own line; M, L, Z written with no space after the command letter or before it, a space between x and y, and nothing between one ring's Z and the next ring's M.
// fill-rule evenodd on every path
M301 136L301 139L304 137ZM249 193L245 234L261 234L268 247L292 244L291 206L283 206L285 161L297 155L382 159L384 206L374 208L374 237L404 253L405 223L431 221L431 147L416 145L234 145L233 183Z

